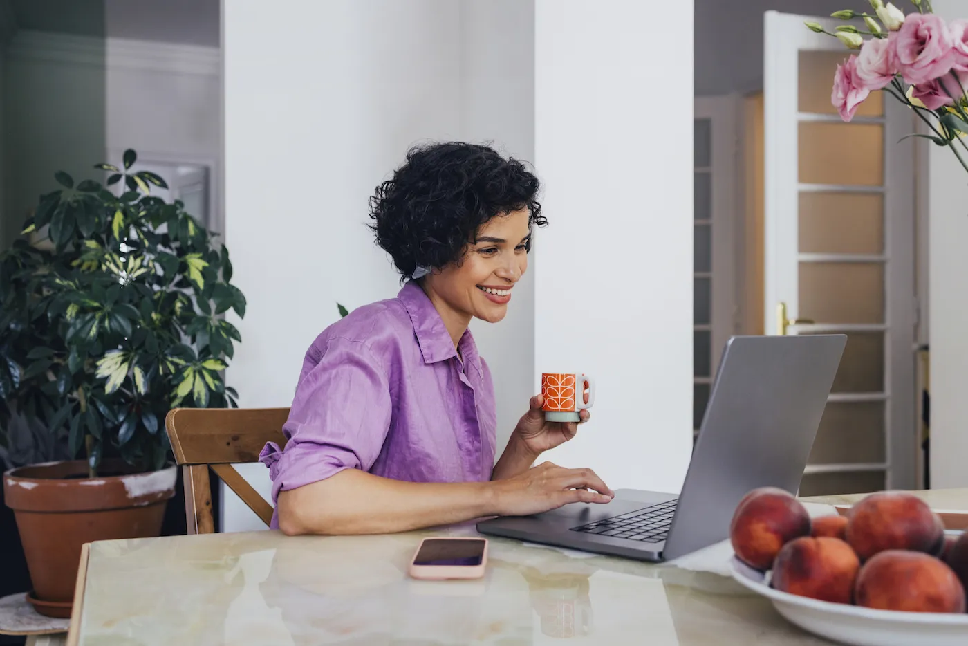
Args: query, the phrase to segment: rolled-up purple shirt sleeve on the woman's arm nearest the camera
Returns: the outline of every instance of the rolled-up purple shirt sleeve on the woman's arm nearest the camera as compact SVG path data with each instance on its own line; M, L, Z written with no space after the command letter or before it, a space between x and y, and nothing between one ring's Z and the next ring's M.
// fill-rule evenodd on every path
M372 351L360 341L331 339L296 386L283 426L286 447L269 443L259 455L272 477L272 502L280 491L344 469L369 471L392 410L386 374Z

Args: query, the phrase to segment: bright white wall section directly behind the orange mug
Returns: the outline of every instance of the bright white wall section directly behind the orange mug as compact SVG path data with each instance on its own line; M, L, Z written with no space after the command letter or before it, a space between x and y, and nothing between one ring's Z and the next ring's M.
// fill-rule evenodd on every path
M598 380L592 420L549 457L612 487L678 492L692 448L692 102L656 91L691 87L691 32L644 37L649 3L590 7L535 3L535 163L554 223L535 245L535 369ZM691 23L691 1L677 17Z

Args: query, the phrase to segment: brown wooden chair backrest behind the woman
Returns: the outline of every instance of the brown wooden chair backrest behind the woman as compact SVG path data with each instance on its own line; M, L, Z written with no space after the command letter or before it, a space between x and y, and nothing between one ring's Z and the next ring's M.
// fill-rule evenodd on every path
M266 442L286 446L285 409L174 409L165 428L175 462L185 479L185 516L189 534L212 534L212 495L208 469L228 485L268 525L272 506L232 464L257 462Z

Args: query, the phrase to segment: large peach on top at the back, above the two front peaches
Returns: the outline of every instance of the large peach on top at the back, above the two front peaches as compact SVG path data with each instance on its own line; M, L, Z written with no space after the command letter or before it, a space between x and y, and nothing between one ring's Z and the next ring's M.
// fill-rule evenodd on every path
M941 518L917 496L881 491L850 510L847 542L861 561L889 549L936 554L945 538Z

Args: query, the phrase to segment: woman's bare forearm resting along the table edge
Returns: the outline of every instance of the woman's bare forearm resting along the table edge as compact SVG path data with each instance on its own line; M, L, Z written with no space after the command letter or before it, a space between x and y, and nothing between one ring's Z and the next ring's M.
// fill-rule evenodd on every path
M279 528L296 534L388 534L494 515L491 482L405 482L356 469L279 492Z

